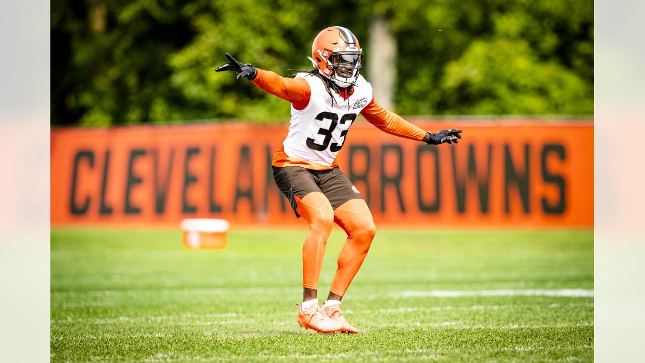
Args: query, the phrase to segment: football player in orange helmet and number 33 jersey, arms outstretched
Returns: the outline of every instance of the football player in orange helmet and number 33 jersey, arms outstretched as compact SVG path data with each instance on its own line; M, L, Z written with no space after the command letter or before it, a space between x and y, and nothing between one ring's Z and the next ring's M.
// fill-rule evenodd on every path
M262 90L291 103L291 125L273 155L273 178L303 216L310 232L303 245L303 303L300 326L323 333L358 333L342 316L341 299L361 267L376 233L372 213L359 191L339 169L336 156L358 114L389 134L428 144L457 143L461 130L426 132L382 108L372 86L361 76L363 51L356 36L330 26L313 40L310 72L284 78L244 64L229 62L215 69L233 71ZM338 269L323 307L317 300L318 280L327 238L337 223L347 233Z

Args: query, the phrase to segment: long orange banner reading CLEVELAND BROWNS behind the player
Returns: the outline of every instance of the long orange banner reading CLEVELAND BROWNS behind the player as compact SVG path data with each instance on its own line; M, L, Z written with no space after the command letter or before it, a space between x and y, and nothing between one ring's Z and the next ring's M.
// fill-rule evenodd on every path
M439 121L414 121L427 130ZM593 226L593 124L450 121L457 145L357 122L339 154L378 225ZM52 130L52 225L304 225L273 182L286 126Z

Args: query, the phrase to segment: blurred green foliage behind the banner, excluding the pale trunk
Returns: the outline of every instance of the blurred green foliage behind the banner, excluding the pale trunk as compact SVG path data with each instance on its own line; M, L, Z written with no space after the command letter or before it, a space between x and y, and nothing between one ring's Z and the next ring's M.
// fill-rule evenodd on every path
M287 76L313 37L386 19L402 115L593 114L592 0L52 0L52 125L284 122L285 101L213 69ZM367 62L366 62L367 64ZM367 72L363 74L367 75ZM370 79L368 78L368 81ZM378 101L378 99L377 99Z

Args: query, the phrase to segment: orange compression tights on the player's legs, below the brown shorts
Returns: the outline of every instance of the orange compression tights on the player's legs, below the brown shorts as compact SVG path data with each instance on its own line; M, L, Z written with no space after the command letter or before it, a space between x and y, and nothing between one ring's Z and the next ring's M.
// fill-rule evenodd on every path
M336 222L347 233L347 240L338 257L338 269L330 291L343 296L352 279L359 271L370 249L376 227L372 213L362 199L352 199L333 210L321 192L310 192L297 198L297 212L309 223L309 234L303 245L303 285L318 289L318 280L323 265L327 238Z

